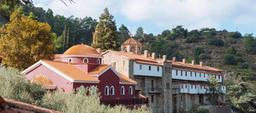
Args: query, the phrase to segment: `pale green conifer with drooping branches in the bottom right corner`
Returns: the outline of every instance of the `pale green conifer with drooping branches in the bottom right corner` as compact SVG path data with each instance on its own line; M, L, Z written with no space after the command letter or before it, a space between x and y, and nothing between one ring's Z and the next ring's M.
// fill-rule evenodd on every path
M244 113L255 113L256 110L253 107L253 101L256 100L256 95L252 94L252 90L249 89L246 76L241 72L233 72L234 80L231 81L231 85L227 87L227 99L233 110L237 110Z

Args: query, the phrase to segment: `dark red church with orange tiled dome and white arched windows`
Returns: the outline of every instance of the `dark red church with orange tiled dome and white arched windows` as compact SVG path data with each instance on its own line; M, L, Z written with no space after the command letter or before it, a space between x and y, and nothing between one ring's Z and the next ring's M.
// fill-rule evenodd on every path
M29 79L37 77L46 90L57 88L70 92L78 87L97 86L102 96L100 100L135 97L136 82L111 65L101 64L103 56L101 49L97 50L84 44L75 45L60 55L61 61L40 60L22 73Z

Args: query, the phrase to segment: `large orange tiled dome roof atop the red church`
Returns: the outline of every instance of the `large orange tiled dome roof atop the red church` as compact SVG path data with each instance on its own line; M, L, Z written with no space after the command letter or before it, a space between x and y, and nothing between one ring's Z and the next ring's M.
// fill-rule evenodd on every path
M93 55L93 56L101 56L100 53L88 45L75 45L69 48L62 55Z

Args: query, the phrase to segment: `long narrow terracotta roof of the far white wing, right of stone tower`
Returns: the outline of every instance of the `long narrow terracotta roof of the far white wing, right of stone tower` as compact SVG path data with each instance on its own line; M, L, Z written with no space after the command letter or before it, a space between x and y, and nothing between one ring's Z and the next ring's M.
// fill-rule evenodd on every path
M167 60L167 61L172 62L172 60ZM219 69L212 68L212 67L205 66L205 65L203 65L203 66L200 66L198 64L193 65L191 63L182 63L179 61L172 62L172 65L188 67L188 68L195 68L195 69L202 69L202 70L224 71L224 70L219 70Z

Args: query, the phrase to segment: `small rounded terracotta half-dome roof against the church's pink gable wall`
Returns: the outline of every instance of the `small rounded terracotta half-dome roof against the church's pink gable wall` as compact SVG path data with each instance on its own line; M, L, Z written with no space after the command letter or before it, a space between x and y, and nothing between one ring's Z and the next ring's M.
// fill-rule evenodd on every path
M41 82L44 87L56 87L55 85L53 85L52 81L44 75L38 75L36 76L31 82Z

